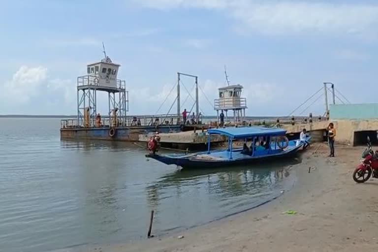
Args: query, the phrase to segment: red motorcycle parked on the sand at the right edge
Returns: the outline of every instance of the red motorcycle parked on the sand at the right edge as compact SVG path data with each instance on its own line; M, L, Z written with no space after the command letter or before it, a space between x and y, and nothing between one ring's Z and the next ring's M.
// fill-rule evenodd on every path
M372 143L368 136L368 147L362 153L361 164L353 172L353 180L357 183L364 183L372 175L373 178L378 178L378 151L373 151Z

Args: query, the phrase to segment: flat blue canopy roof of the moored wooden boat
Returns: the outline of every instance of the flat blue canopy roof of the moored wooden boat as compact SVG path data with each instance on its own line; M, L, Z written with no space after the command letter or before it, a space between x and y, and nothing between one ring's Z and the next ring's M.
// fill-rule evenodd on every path
M254 136L282 136L286 134L286 130L282 128L266 128L266 127L228 127L228 128L211 128L208 129L209 134L221 134L233 138L248 138Z

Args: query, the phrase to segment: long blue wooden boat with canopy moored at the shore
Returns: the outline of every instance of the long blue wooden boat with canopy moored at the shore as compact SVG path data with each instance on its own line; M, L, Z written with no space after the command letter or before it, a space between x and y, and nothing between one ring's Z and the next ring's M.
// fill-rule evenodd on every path
M148 154L146 157L183 168L214 168L250 164L252 161L260 159L293 156L305 145L299 139L289 141L286 137L286 130L282 128L258 126L214 128L209 129L207 132L208 150L205 152L171 155ZM227 136L228 147L226 150L210 150L210 137L212 134ZM310 139L311 137L307 136L307 141L310 141ZM238 140L244 140L243 148L233 149L233 142ZM251 141L251 147L247 146L248 140Z

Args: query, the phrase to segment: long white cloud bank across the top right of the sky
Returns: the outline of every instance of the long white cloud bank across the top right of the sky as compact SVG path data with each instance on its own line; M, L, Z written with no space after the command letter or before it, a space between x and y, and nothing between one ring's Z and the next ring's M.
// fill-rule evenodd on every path
M204 8L221 10L241 22L245 29L268 34L324 32L337 35L377 37L378 4L327 1L262 0L144 0L157 9Z

